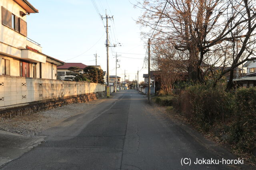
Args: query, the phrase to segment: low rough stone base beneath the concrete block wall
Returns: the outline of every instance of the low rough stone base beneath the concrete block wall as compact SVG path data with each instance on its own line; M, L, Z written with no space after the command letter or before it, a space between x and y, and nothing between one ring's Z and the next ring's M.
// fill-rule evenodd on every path
M11 119L13 117L18 117L22 115L30 115L38 111L49 110L68 104L89 102L104 96L106 96L106 92L96 92L90 94L68 96L65 98L44 100L40 102L31 102L29 105L26 106L13 107L0 111L0 120Z

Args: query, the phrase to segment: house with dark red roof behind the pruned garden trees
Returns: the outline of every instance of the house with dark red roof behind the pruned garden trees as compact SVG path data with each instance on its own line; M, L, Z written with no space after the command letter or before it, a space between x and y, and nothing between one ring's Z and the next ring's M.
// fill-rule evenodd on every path
M68 68L70 68L70 67L79 67L81 73L84 73L84 68L87 67L87 65L85 65L83 63L65 63L64 65L57 67L58 76L60 76L60 78L64 79L67 72L69 72Z

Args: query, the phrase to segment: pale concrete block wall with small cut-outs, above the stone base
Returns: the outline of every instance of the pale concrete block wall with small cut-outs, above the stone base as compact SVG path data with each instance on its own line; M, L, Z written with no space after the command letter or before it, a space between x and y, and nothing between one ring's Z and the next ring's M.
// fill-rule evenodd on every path
M0 75L0 107L105 91L105 85Z

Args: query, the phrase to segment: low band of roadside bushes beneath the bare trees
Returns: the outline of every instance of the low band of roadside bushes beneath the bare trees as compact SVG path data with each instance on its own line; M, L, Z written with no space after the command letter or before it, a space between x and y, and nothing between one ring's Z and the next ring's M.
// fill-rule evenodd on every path
M237 156L256 163L256 88L226 92L225 86L195 84L178 94L159 95L154 101Z

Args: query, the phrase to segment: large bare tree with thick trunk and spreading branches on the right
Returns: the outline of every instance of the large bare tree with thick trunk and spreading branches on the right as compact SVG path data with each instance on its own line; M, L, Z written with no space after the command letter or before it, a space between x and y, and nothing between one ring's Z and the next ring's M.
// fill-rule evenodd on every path
M171 43L177 50L187 51L189 78L194 82L204 82L202 62L207 61L206 57L211 57L207 54L216 48L230 45L227 42L242 43L237 54L233 51L231 57L234 56L234 62L222 76L226 72L234 74L232 69L248 61L253 54L254 5L255 0L144 0L136 6L144 9L138 23L150 27L151 32L158 25L152 44ZM150 33L143 35L147 37ZM240 61L245 53L245 59Z

